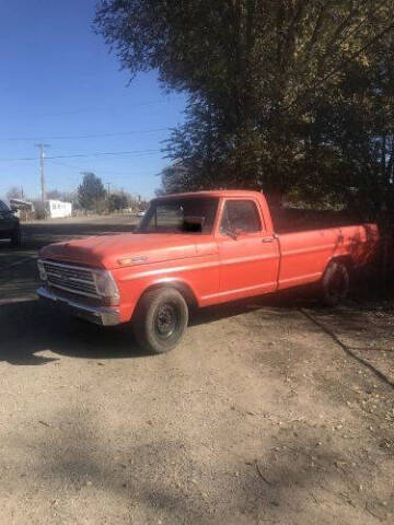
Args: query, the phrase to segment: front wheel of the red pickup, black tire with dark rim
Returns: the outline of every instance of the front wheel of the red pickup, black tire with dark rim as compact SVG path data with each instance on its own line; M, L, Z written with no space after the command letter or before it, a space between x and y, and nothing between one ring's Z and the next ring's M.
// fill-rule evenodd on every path
M154 353L175 348L182 340L188 323L188 307L174 288L146 292L132 318L138 343Z

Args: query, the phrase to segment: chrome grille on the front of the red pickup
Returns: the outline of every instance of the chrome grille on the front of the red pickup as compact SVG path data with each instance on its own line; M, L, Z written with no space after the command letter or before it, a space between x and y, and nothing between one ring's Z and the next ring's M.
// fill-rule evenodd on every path
M92 270L62 262L43 261L48 284L60 290L99 298Z

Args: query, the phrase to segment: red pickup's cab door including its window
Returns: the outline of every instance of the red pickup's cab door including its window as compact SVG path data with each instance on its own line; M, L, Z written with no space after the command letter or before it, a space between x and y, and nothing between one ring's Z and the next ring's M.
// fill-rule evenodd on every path
M218 231L220 290L224 300L277 289L279 246L263 223L257 201L228 199Z

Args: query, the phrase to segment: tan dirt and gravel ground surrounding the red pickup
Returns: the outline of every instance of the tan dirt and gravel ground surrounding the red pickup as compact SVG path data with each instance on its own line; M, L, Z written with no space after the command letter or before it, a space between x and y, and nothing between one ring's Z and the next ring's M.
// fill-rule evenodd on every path
M0 245L1 523L393 523L393 303L211 308L159 357L38 304L40 245L129 228Z

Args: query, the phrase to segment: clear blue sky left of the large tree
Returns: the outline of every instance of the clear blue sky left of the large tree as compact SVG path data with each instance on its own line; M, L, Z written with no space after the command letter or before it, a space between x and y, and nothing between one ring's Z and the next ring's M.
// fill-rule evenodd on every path
M48 189L74 189L83 171L144 197L160 185L157 174L169 162L161 141L183 121L185 96L165 94L154 72L128 85L129 74L92 30L94 7L0 2L0 196L15 185L39 195L38 142L50 144ZM59 139L105 133L113 136ZM49 159L125 151L132 153ZM14 160L21 158L34 160Z

